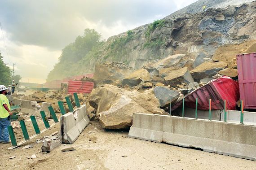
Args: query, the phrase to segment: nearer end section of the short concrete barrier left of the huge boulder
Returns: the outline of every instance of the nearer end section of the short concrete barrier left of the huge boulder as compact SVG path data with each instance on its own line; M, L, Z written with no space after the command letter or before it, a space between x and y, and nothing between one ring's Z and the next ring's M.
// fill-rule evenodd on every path
M73 113L69 112L61 116L61 143L73 144L80 135L78 127L75 126Z

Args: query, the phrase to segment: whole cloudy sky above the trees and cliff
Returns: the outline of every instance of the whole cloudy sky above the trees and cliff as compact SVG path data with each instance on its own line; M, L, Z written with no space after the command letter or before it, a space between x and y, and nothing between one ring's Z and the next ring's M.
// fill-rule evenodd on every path
M95 29L103 39L197 0L0 0L0 52L22 82L45 83L62 49ZM5 48L5 45L6 48ZM7 50L6 50L7 49Z

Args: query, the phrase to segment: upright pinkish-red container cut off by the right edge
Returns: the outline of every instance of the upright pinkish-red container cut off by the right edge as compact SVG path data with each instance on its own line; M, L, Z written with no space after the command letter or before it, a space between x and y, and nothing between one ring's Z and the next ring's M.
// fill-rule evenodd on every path
M238 54L237 70L244 109L256 109L256 52Z

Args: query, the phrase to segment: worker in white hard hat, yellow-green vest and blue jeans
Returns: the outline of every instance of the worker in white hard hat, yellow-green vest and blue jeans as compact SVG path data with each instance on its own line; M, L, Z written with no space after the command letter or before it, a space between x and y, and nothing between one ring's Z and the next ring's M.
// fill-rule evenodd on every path
M7 95L7 88L0 85L0 143L9 144L9 132L7 127L11 125L11 108Z

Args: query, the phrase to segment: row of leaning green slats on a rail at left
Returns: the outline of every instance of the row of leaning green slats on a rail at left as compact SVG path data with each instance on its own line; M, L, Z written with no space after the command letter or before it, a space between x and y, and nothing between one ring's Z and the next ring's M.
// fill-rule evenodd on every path
M78 95L76 93L74 93L74 98L75 98L75 104L76 104L76 107L80 107L80 103L79 103L79 98L78 98ZM66 103L68 105L68 109L70 112L73 112L74 109L72 107L72 104L71 104L71 100L69 97L66 97ZM60 111L62 113L62 115L66 114L66 111L65 111L65 108L64 108L64 105L63 105L63 102L62 101L58 101L58 105L59 105L59 108L60 108ZM13 107L15 109L18 108L18 106L16 107ZM27 141L29 141L30 139L33 139L35 138L37 135L40 135L41 133L43 133L44 131L47 131L50 127L54 126L55 124L57 124L59 122L57 116L56 116L56 113L54 112L54 109L52 106L49 106L48 107L49 111L50 111L50 114L54 120L54 124L53 125L50 125L49 124L49 121L48 121L48 118L46 117L45 115L45 112L44 111L40 111L40 114L41 114L41 117L44 121L44 126L45 126L45 129L40 131L39 129L39 126L36 122L36 119L35 119L35 116L31 116L31 122L33 124L33 127L34 127L34 130L35 130L35 135L29 137L29 134L27 132L27 129L26 129L26 124L25 124L25 121L24 120L21 120L19 121L20 122L20 125L21 125L21 129L22 129L22 134L24 136L24 141L20 142L17 144L17 141L16 141L16 137L15 137L15 134L14 134L14 131L13 131L13 126L8 126L8 131L9 131L9 135L10 135L10 139L11 139L11 143L12 143L12 147L8 148L8 149L13 149L13 148L17 148L18 146L26 143Z

